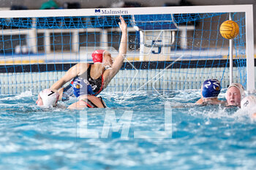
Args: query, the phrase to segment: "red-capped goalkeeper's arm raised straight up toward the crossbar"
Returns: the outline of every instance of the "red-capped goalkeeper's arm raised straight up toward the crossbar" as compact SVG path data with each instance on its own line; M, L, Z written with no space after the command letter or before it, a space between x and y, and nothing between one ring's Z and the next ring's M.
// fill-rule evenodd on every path
M119 45L118 56L115 58L115 61L112 64L112 69L108 70L107 78L109 81L118 73L119 69L121 69L124 58L127 54L127 23L125 23L124 18L122 18L121 16L119 19L121 20L121 23L118 23L122 33L121 42Z

